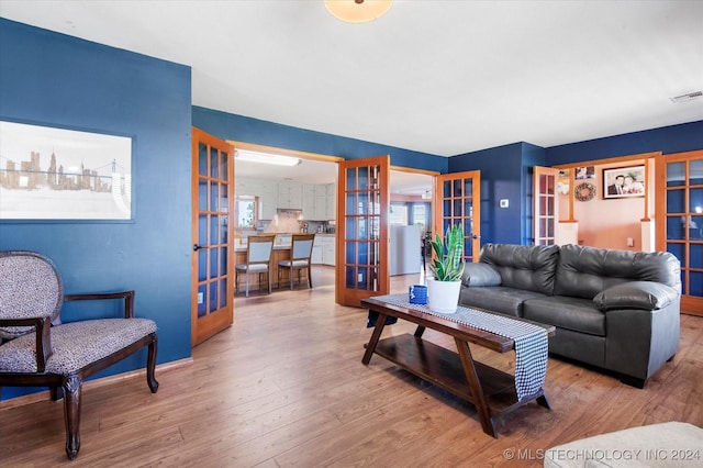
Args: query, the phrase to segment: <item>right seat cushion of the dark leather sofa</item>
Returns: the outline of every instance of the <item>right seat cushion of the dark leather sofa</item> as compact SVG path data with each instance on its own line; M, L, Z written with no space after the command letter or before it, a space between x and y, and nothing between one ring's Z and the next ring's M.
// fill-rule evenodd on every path
M605 336L605 313L590 300L563 296L528 299L523 305L523 312L527 320Z

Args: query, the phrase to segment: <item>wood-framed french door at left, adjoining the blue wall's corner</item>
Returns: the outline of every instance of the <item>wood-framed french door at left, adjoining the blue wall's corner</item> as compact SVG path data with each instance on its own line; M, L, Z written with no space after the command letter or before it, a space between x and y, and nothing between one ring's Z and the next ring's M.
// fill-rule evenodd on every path
M234 317L233 153L228 143L192 129L192 346Z

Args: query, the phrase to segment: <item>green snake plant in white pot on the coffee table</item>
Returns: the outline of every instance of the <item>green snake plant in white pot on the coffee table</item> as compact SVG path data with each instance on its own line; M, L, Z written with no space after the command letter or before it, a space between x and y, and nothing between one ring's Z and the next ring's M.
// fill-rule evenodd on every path
M461 260L464 227L460 224L447 226L444 239L435 234L429 245L433 253L429 269L434 278L427 279L427 305L433 312L455 313L466 266Z

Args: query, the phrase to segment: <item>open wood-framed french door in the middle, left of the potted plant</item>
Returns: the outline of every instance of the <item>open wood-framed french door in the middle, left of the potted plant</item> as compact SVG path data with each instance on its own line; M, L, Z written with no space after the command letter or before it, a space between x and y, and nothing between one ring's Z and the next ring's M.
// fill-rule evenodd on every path
M390 157L339 163L335 300L360 307L388 294Z

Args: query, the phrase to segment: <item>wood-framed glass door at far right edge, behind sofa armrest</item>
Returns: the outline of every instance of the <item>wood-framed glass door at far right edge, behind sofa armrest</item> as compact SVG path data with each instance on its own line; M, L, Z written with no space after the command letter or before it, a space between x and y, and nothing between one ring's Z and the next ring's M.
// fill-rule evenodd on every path
M681 310L703 315L703 151L656 159L657 249L681 261Z

